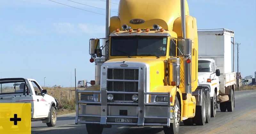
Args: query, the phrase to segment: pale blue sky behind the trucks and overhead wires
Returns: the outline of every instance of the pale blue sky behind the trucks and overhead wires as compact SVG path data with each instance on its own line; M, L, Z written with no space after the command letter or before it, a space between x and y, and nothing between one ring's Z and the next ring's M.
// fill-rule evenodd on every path
M80 9L105 14L101 0L53 0ZM111 0L119 3L118 0ZM190 15L198 29L227 28L241 43L239 71L242 77L256 71L256 1L188 0ZM111 4L111 16L118 5ZM90 38L105 37L105 16L48 0L1 0L0 78L34 78L41 86L75 86L76 80L93 80ZM237 71L235 51L235 71ZM254 78L254 76L253 76Z

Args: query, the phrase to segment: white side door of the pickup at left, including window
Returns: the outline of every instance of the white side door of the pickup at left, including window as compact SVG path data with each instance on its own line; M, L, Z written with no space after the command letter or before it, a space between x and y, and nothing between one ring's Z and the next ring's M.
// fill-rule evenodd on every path
M33 98L35 100L35 110L36 110L36 118L38 117L47 117L49 114L49 105L46 99L42 96L42 91L40 89L40 86L35 82L31 81L35 94L33 95Z

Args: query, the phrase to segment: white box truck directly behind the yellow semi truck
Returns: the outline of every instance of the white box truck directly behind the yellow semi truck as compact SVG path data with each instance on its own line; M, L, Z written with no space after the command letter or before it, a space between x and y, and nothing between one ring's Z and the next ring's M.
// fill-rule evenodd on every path
M198 30L198 84L210 90L212 117L218 103L221 112L232 112L235 107L236 72L231 71L232 45L234 31L225 28ZM216 76L217 69L220 76Z

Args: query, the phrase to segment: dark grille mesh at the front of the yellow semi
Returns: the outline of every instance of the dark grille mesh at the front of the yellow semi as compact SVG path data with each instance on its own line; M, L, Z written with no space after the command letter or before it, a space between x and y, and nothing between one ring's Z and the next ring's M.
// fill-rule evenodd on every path
M108 69L108 79L139 80L139 69ZM138 82L108 81L108 91L138 92ZM113 94L114 101L133 101L133 94Z

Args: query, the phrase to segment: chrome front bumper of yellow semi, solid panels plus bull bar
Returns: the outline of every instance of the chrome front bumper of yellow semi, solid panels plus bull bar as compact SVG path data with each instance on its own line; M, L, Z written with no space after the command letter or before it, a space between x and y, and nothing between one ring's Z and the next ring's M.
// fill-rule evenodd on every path
M107 93L113 93L113 91L79 91L78 89L76 89L76 124L90 123L102 125L170 127L170 123L174 123L175 111L173 110L173 107L171 107L170 105L170 97L168 97L168 103L144 103L144 97L146 94L170 96L170 92L115 92L126 94L138 94L139 103L108 102L107 100L102 102L79 101L78 93L101 93L102 101L107 99ZM120 115L120 110L127 111L127 115ZM130 118L132 119L132 123L115 122L116 118Z

